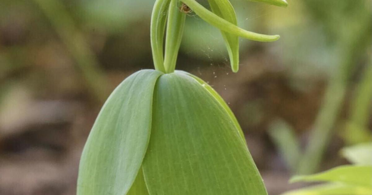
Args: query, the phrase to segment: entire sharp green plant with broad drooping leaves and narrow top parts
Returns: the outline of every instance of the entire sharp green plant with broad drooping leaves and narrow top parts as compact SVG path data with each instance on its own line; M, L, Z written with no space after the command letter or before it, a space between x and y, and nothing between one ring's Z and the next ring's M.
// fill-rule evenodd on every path
M262 1L286 6L285 0ZM237 27L228 0L209 4L212 12L195 0L155 2L156 70L132 74L103 105L81 156L78 195L267 194L228 105L206 82L175 66L188 9L221 29L234 72L239 36L257 41L279 36Z

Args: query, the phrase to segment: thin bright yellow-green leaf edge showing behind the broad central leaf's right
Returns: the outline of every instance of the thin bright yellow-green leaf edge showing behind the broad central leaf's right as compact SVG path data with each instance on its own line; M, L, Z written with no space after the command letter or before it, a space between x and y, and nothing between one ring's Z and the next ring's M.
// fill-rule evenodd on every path
M232 113L230 107L226 104L224 99L211 87L211 85L209 85L208 83L203 81L201 78L196 77L195 75L190 74L188 72L185 72L185 71L176 71L176 72L189 75L190 77L192 77L196 81L198 81L202 85L202 87L204 87L206 90L208 90L208 92L218 101L218 103L221 104L221 106L225 108L225 110L229 114L231 120L234 122L235 126L237 127L237 129L239 131L239 134L240 134L241 138L243 139L243 142L246 143L246 138L244 137L243 130L241 129L240 124L238 123L238 120L236 119L234 113Z

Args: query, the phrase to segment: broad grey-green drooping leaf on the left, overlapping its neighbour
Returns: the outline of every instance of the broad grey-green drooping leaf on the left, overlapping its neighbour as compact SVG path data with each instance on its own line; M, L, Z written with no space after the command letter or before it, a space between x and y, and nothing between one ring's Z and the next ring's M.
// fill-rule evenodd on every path
M153 91L161 74L138 71L112 92L84 147L77 195L122 195L129 191L150 139Z

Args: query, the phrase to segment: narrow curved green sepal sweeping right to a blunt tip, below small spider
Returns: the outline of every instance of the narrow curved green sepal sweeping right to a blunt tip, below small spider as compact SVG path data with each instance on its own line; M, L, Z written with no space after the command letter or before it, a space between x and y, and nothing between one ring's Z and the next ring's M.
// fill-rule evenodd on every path
M208 22L209 24L217 27L232 35L240 36L245 39L256 40L256 41L276 41L280 38L279 35L262 35L259 33L249 32L247 30L241 29L238 26L228 22L221 17L217 16L213 12L209 11L201 4L195 0L181 0L183 3L187 4L199 17Z

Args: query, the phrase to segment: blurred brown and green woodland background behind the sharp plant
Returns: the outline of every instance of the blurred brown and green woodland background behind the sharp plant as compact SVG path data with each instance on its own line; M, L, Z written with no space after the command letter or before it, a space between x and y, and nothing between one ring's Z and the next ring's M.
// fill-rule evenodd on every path
M177 69L230 105L270 195L299 187L288 183L294 174L347 164L342 147L372 140L372 1L231 3L240 27L281 39L241 39L234 74L219 30L190 13ZM105 99L153 68L153 4L0 0L0 195L76 193Z

